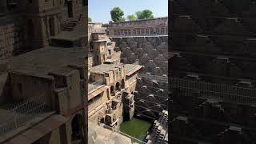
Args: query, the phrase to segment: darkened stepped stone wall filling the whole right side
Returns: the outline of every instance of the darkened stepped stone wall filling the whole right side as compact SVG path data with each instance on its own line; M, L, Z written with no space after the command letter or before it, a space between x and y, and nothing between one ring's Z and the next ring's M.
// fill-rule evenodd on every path
M254 1L171 1L171 142L255 143Z

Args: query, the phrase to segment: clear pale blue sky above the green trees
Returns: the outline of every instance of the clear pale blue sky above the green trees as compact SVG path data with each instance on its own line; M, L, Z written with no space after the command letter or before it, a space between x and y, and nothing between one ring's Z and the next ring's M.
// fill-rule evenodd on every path
M154 18L168 16L168 0L88 0L88 14L93 22L107 23L114 6L124 11L124 17L138 10L153 11Z

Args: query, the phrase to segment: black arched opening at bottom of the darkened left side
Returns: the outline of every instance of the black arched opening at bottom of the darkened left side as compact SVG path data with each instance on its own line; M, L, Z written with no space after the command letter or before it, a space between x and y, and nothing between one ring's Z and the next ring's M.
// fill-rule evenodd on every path
M83 134L82 134L82 115L81 114L75 114L72 122L71 122L71 140L72 141L78 141L82 140Z

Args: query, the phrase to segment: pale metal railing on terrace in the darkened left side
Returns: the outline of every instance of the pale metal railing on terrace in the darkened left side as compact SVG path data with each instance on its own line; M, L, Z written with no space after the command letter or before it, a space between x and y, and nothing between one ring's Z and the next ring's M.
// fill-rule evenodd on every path
M45 96L38 96L3 109L6 113L0 114L0 135L25 125L32 118L42 114L46 107L48 106Z

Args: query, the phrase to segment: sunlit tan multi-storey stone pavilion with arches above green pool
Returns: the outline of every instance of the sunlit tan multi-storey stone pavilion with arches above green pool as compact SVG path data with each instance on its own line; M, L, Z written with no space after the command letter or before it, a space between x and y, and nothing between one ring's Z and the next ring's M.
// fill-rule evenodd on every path
M134 115L134 91L142 66L122 64L106 33L92 33L88 56L88 118L116 127Z

